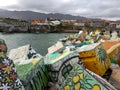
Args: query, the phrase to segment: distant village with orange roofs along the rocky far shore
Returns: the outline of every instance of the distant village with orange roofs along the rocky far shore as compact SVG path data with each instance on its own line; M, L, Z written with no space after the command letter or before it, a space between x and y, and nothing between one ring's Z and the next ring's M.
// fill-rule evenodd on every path
M100 31L116 30L120 34L120 21L103 19L87 20L59 20L47 18L45 20L20 20L0 18L0 32L3 33L74 33L80 30L88 32L99 29Z

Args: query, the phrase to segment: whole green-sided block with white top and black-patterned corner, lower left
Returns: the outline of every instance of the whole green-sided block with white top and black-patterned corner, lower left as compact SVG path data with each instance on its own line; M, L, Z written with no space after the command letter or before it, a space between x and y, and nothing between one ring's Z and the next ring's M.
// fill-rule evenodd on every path
M17 73L25 90L47 89L49 77L44 66L44 57L36 53L30 45L13 49L9 55L16 62Z

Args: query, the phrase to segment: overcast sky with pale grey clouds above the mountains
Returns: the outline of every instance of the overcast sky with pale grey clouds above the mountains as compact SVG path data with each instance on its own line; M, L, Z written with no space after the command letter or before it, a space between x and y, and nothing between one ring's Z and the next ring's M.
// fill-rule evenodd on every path
M120 0L0 0L0 8L120 19Z

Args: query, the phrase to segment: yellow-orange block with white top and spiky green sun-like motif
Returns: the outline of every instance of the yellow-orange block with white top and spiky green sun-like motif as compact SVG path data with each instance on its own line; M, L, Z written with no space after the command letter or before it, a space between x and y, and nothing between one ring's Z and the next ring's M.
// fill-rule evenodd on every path
M104 75L111 65L107 52L101 43L79 48L79 55L85 67L100 76Z

